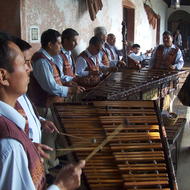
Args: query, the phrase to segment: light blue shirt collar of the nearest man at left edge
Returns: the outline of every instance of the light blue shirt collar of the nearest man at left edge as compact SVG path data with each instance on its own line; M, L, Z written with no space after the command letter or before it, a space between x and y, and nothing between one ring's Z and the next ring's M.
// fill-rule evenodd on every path
M24 131L26 120L20 113L18 113L13 107L2 101L0 101L0 108L0 115L3 115Z

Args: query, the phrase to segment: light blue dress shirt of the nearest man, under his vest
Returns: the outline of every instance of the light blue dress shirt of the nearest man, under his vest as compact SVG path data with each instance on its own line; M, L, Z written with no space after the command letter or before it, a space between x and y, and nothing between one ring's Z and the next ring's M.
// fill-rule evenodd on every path
M0 101L0 116L14 122L24 131L25 119L10 105ZM28 158L22 144L11 138L0 139L0 189L36 190L30 171ZM48 190L59 190L56 185Z

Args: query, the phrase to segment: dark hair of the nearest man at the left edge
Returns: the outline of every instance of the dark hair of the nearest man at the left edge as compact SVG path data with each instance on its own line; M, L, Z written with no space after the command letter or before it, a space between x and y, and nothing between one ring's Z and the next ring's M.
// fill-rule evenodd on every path
M11 65L11 54L13 50L9 47L9 42L10 39L7 36L0 36L0 68L6 69L8 72L13 72Z

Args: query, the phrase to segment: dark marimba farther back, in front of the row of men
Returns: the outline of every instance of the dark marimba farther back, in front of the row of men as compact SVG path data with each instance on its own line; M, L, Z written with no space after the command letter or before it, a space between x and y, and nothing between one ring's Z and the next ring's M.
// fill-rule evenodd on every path
M187 71L122 69L85 93L83 100L156 100L175 90L187 75Z

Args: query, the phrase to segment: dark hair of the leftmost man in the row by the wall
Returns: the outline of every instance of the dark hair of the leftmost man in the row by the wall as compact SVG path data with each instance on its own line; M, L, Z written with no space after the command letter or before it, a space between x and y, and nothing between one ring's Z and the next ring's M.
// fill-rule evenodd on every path
M44 31L41 35L42 48L46 48L49 42L51 42L52 44L55 44L57 42L57 38L60 36L61 34L57 30L54 30L54 29L48 29Z

